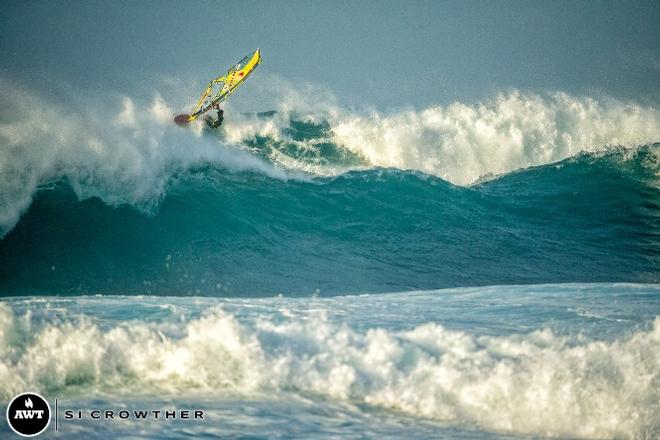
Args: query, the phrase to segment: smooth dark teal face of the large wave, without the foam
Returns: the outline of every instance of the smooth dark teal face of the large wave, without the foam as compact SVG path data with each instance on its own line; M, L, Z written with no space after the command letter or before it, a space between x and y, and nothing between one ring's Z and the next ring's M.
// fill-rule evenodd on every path
M150 215L40 189L0 242L6 294L272 295L657 282L658 147L471 187L372 169L277 180L207 164Z

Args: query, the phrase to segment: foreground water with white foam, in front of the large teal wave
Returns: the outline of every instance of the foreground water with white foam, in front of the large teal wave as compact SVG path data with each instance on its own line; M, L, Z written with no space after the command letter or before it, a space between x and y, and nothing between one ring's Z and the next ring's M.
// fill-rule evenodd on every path
M174 396L209 412L228 402L222 423L212 413L181 435L166 425L174 438L213 428L216 436L268 437L271 429L357 438L385 426L393 438L498 438L470 434L476 428L653 439L658 291L546 285L316 299L16 298L0 303L0 398L32 389L60 396L60 408L72 399L112 408L135 405L135 396ZM429 422L466 431L424 432ZM62 420L60 429L89 438L121 425Z

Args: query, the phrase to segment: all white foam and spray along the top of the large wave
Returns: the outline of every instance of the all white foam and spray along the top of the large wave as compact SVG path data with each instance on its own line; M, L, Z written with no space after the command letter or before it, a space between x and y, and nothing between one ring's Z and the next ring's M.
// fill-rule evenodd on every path
M355 166L395 167L469 184L580 151L660 139L654 108L563 93L514 91L478 105L380 113L338 106L327 91L319 95L313 87L282 85L275 115L232 113L219 141L202 136L201 124L189 130L174 126L174 110L158 94L144 101L109 95L90 110L76 99L49 102L7 80L0 80L0 90L2 108L12 109L0 117L0 232L13 227L38 185L61 177L81 197L149 208L164 195L173 170L200 161L276 178L287 177L283 169L336 175ZM323 138L293 140L287 130L292 118L326 121L330 128ZM275 165L269 164L245 151L245 142L256 136L294 144L305 157L331 142L363 163L310 161L274 148Z

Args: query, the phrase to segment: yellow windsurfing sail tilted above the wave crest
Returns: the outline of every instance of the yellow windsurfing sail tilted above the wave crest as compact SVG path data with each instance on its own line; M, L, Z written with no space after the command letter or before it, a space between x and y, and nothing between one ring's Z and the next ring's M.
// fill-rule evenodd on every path
M261 63L259 49L246 55L234 64L222 76L212 80L197 101L195 109L190 115L178 115L174 118L177 124L186 124L194 121L199 115L209 111L213 105L219 104L229 97L247 79L252 71Z

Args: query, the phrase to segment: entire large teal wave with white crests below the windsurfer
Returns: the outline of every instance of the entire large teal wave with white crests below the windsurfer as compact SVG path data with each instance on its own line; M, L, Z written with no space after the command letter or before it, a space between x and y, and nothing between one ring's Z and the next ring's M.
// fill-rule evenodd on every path
M653 108L512 92L383 114L293 96L228 111L213 135L174 126L160 96L89 113L2 84L5 296L658 281Z

